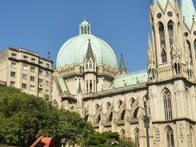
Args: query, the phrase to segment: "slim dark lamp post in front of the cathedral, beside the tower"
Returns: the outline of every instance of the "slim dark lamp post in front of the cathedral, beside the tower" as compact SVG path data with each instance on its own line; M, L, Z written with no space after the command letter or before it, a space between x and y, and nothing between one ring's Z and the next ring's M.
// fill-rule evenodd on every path
M147 97L144 96L143 98L144 100L144 116L143 116L143 119L144 119L144 127L146 128L146 143L147 143L147 147L150 147L150 140L149 140L149 116L148 116L148 112L147 112L147 105L146 105L146 102L147 102Z

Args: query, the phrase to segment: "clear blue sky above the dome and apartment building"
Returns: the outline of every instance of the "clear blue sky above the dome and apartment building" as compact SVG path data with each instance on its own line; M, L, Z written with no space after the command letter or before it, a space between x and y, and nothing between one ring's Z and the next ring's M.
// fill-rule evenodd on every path
M129 71L146 68L149 0L2 0L0 50L26 48L56 62L63 43L79 34L86 18ZM119 64L119 63L118 63Z

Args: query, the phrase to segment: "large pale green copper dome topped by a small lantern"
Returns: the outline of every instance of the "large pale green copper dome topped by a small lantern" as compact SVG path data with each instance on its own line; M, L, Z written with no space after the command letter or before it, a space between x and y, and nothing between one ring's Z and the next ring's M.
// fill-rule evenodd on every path
M97 64L117 68L117 60L112 48L104 40L91 34L91 26L87 21L80 24L78 36L62 45L57 55L56 67L82 63L87 53L89 39Z

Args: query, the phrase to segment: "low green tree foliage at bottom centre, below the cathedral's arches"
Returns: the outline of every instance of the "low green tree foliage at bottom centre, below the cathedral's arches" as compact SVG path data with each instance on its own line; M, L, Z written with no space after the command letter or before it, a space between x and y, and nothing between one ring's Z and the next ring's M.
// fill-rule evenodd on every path
M94 133L86 140L85 147L135 147L131 139L121 138L117 132Z

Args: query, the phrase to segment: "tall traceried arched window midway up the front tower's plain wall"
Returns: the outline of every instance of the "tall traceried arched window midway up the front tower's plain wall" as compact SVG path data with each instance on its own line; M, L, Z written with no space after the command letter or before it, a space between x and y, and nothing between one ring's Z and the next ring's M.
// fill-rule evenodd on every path
M165 120L170 120L173 118L171 93L167 88L163 90L163 102L164 102Z

